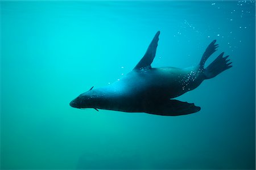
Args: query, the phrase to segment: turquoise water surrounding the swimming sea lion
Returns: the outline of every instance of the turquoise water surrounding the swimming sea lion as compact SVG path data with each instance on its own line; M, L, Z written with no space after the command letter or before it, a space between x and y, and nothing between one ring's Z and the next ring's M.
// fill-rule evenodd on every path
M1 1L1 169L255 169L255 1ZM233 67L166 117L75 109L138 63ZM209 61L209 62L210 62ZM209 63L207 62L207 63Z

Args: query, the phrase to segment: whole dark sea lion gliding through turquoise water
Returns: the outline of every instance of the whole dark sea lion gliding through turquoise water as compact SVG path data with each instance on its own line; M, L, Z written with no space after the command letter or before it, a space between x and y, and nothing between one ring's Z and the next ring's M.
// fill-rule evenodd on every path
M141 61L130 73L109 86L93 89L79 95L70 105L74 108L107 109L122 112L144 112L162 116L178 116L200 111L200 107L173 98L198 87L203 80L213 78L232 67L221 53L204 68L205 61L212 55L218 44L210 42L199 65L179 69L175 67L152 68L160 31Z

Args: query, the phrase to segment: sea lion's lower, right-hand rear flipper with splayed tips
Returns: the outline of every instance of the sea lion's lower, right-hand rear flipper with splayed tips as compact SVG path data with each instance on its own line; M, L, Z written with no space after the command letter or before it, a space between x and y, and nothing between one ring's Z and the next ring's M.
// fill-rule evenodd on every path
M225 71L232 67L228 59L229 56L223 57L221 53L210 65L204 70L205 79L214 78L214 76L220 74L222 71Z

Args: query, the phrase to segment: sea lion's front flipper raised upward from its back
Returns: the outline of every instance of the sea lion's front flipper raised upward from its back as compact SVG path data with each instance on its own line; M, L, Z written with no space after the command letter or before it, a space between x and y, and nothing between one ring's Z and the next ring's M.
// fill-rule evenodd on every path
M145 68L151 68L151 63L155 58L156 48L158 46L160 31L156 32L154 39L151 41L150 45L147 48L146 53L142 57L141 61L134 67L133 70L140 70Z

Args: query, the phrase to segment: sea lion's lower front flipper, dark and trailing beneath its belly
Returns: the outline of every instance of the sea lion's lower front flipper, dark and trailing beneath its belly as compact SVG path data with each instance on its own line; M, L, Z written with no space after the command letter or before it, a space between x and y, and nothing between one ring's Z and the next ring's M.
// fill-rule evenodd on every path
M193 103L187 103L179 100L167 100L160 105L154 105L154 107L150 108L150 111L146 111L146 113L162 116L180 116L199 112L200 109L200 107L195 106Z

